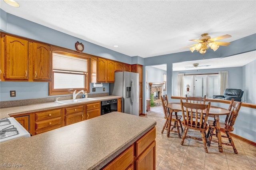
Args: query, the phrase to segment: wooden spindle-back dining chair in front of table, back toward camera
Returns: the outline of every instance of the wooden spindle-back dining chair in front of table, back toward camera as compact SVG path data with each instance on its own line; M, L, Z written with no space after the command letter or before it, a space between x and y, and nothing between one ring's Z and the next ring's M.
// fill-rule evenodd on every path
M207 130L207 119L208 119L211 102L208 101L208 104L189 103L189 102L183 103L182 99L180 99L180 106L181 106L182 118L183 118L182 125L185 127L182 141L180 144L181 145L184 144L184 140L186 137L202 140L204 144L204 151L208 152L207 146L206 146L206 130ZM194 113L194 114L190 114L190 113ZM200 131L202 138L188 136L187 132L189 128Z

